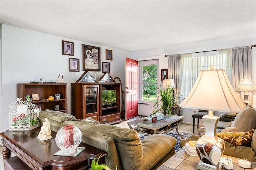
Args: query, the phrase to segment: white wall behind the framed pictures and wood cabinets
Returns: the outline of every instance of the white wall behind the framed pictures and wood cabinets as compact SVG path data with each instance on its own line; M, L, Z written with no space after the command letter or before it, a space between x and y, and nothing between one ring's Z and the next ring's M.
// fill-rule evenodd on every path
M9 104L16 99L17 83L30 83L30 81L40 77L44 78L44 80L56 81L59 74L64 75L63 80L64 83L67 83L68 88L68 113L71 113L70 83L74 83L84 73L82 67L82 44L101 48L100 67L102 67L102 61L109 62L111 77L120 77L124 89L125 58L130 57L130 53L126 51L4 24L2 25L1 35L2 67L0 73L2 72L2 84L0 84L0 90L2 90L2 98L0 98L0 132L9 128ZM74 42L74 56L62 55L62 40ZM113 51L113 61L106 60L105 49ZM69 57L80 59L80 72L68 71ZM96 73L98 79L103 75L102 69L101 71L90 71L90 73L92 75Z

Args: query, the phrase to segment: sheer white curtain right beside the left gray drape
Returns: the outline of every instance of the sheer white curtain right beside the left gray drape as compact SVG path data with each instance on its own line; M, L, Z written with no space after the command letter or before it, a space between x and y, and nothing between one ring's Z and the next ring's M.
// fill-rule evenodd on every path
M182 54L180 59L180 75L178 93L186 97L192 89L192 57L191 53ZM182 102L182 101L179 101Z

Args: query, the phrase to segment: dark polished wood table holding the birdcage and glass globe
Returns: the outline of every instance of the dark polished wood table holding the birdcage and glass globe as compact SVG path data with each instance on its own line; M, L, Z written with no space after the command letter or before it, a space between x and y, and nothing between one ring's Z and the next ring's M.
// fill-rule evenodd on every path
M52 139L41 141L37 138L40 127L30 131L10 131L2 132L4 148L3 158L10 158L14 152L18 158L25 162L33 170L70 170L88 169L92 160L100 155L100 163L104 163L103 157L107 155L104 150L82 143L79 147L85 149L76 157L54 156L60 150L55 143L56 132L52 131Z

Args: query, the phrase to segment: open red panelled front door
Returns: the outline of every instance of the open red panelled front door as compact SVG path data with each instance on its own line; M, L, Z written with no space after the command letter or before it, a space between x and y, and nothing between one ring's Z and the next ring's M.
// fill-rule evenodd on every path
M126 58L126 114L125 119L138 115L138 61Z

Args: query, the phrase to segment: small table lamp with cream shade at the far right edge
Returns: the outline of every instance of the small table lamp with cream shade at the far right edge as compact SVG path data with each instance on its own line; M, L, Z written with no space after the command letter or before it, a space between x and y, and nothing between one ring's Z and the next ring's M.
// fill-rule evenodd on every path
M252 83L251 79L242 79L238 88L236 89L236 91L244 91L244 103L246 104L251 104L248 101L248 91L256 91L256 87L254 86L254 84Z

